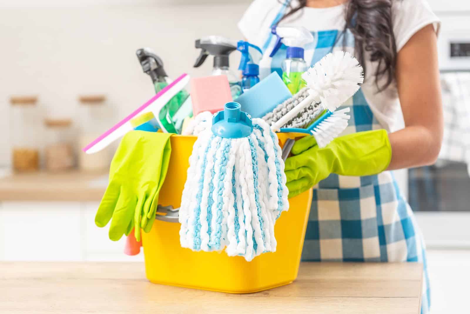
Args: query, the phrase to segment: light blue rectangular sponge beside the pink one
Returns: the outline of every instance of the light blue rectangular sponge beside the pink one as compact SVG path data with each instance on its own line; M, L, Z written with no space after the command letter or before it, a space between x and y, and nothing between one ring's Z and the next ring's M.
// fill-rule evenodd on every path
M269 74L265 79L244 92L235 101L242 105L242 111L251 118L263 118L280 103L292 97L287 86L277 72Z

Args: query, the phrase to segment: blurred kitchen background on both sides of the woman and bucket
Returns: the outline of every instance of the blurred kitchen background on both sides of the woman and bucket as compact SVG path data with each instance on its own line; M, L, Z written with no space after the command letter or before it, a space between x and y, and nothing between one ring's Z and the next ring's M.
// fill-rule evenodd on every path
M429 2L442 20L446 140L436 165L397 176L417 213L439 291L470 262L470 2ZM155 94L136 49L151 47L171 78L207 75L211 62L192 67L199 55L194 40L241 39L236 23L249 3L0 1L0 260L143 259L124 255L124 239L111 242L94 225L113 147L88 158L79 148ZM231 67L238 61L235 52ZM39 149L42 170L12 174L13 150L25 141L31 150L16 150L16 163L34 168ZM63 141L71 146L56 145ZM73 170L60 171L71 163Z

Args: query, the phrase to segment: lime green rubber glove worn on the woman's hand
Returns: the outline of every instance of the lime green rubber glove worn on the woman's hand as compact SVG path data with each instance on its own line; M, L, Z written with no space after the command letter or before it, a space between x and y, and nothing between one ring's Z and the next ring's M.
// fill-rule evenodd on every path
M392 148L385 130L341 136L325 148L313 136L295 142L285 164L289 197L296 196L331 173L365 176L383 172L392 159Z

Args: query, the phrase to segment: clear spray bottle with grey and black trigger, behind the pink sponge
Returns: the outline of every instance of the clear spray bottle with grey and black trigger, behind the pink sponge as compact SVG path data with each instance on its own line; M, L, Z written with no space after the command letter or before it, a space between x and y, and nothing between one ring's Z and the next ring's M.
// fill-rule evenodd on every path
M228 55L236 50L236 45L227 38L220 36L207 36L196 40L196 48L201 49L194 67L201 66L208 55L214 56L214 67L211 75L226 75L230 84L232 98L236 99L242 94L242 86L238 76L230 71Z

